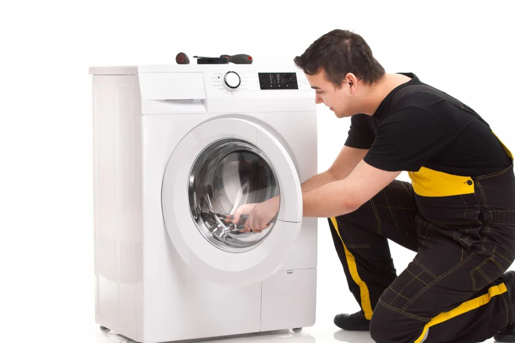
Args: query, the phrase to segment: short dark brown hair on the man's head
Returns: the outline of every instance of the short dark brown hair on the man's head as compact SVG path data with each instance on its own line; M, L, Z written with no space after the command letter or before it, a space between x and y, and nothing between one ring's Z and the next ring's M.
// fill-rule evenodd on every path
M295 65L307 75L315 75L323 68L328 81L337 88L348 73L366 84L379 81L385 69L372 56L372 50L361 35L348 30L333 30L313 42Z

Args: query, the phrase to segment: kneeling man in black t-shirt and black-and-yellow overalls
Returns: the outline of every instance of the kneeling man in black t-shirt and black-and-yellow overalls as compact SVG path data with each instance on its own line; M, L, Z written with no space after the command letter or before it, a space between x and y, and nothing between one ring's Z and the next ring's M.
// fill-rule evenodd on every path
M387 74L358 34L334 30L295 58L316 103L350 117L331 168L302 185L304 216L328 217L374 341L515 342L513 156L470 107L411 73ZM407 171L411 183L395 178ZM278 199L246 205L260 232ZM417 252L399 276L387 239Z

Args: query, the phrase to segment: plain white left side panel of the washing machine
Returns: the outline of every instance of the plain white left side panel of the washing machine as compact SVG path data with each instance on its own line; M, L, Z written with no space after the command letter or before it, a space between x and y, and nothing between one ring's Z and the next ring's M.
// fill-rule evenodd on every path
M134 76L93 76L95 320L135 337Z

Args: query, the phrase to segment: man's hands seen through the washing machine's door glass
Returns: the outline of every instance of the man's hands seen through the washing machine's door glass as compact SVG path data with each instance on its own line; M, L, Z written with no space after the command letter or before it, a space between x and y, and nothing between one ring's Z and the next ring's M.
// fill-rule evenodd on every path
M243 231L261 233L279 211L279 197L258 204L245 204L236 209L232 223L236 224L244 214L249 214Z

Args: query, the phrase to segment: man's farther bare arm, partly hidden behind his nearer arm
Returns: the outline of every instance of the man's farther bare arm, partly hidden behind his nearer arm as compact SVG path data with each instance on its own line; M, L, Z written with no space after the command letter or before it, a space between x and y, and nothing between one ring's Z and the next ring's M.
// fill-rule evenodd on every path
M367 154L367 151L367 149L344 146L328 170L311 177L301 185L302 192L346 178Z

